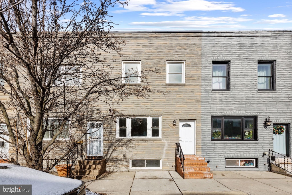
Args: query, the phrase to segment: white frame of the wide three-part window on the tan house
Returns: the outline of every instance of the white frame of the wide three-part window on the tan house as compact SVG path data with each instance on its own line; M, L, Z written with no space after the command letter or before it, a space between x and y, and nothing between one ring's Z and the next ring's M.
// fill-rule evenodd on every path
M125 118L125 117L121 117L121 118ZM147 118L147 136L131 136L131 120L132 118L126 118L126 137L120 137L120 130L119 130L119 120L120 118L117 118L117 138L150 138L150 139L155 139L155 138L161 138L161 116L136 116L135 118ZM159 118L159 135L156 137L152 137L152 118Z

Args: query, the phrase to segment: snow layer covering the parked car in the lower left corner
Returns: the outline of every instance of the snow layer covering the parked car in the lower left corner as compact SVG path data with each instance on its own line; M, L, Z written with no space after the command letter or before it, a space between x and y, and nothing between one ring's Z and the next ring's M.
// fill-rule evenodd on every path
M83 182L81 180L59 177L19 165L1 163L0 184L31 184L32 195L62 195L78 188Z

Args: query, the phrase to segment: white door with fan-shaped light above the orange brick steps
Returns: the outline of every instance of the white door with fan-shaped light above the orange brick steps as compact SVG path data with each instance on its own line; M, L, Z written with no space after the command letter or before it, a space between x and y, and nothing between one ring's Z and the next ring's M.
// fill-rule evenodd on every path
M180 120L180 146L183 154L195 154L194 120Z

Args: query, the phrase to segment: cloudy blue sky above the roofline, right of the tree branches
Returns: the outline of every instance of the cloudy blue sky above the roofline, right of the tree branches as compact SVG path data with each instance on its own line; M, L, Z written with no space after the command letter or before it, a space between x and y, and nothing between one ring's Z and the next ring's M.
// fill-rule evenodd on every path
M292 1L130 0L109 11L116 30L292 30Z

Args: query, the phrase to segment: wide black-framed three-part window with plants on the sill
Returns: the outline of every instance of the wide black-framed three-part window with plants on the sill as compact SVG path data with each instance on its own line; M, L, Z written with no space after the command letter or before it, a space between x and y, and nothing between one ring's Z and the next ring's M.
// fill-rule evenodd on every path
M212 140L256 140L255 116L212 117Z

